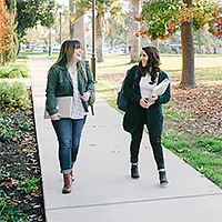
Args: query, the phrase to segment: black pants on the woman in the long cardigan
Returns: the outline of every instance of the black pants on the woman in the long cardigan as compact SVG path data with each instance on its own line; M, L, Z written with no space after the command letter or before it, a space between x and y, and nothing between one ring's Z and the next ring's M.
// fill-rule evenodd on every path
M137 163L139 161L140 143L142 140L143 128L147 124L147 112L145 109L142 109L139 117L139 121L134 132L131 134L131 144L130 144L130 162ZM150 134L149 134L150 135ZM153 155L158 170L164 169L164 158L161 144L161 137L153 138L150 135L150 143L152 145Z

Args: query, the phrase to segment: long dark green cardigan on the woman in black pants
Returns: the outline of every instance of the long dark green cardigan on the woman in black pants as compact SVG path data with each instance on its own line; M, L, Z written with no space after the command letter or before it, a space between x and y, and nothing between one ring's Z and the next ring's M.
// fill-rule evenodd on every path
M167 73L161 71L159 74L158 84L165 78L168 78ZM141 92L139 87L140 80L141 77L138 77L138 65L134 65L129 70L123 83L123 93L129 100L128 110L123 118L123 129L130 133L133 133L139 120L140 112L143 109L139 104L141 99ZM147 110L147 124L149 134L151 137L160 137L162 134L162 103L169 102L170 98L171 92L169 85L165 92L162 95L158 97L155 103L150 105L150 108Z

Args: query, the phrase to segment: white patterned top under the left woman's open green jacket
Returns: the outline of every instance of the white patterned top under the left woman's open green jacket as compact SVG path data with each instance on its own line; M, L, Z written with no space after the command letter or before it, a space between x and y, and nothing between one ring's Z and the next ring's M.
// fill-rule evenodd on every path
M73 101L72 101L72 113L71 119L83 119L87 112L84 111L81 94L78 90L78 71L77 65L71 69L69 69L69 73L72 78L72 84L73 84Z

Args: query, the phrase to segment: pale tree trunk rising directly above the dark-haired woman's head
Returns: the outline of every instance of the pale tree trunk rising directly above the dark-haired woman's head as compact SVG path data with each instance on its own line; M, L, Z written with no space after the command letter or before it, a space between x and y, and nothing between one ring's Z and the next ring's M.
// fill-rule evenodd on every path
M131 63L139 61L140 38L135 37L133 32L140 30L140 23L134 20L134 17L140 13L140 3L141 0L132 0Z

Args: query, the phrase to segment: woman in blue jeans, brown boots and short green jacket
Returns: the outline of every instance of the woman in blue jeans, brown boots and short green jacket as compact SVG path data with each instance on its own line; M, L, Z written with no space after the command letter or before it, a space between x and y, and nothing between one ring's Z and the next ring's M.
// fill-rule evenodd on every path
M77 160L80 138L88 115L89 99L94 81L89 63L82 60L81 42L62 43L57 62L50 68L47 82L47 111L50 114L59 142L59 161L63 173L62 193L71 192L73 164ZM72 97L70 118L62 118L57 110L58 97Z

